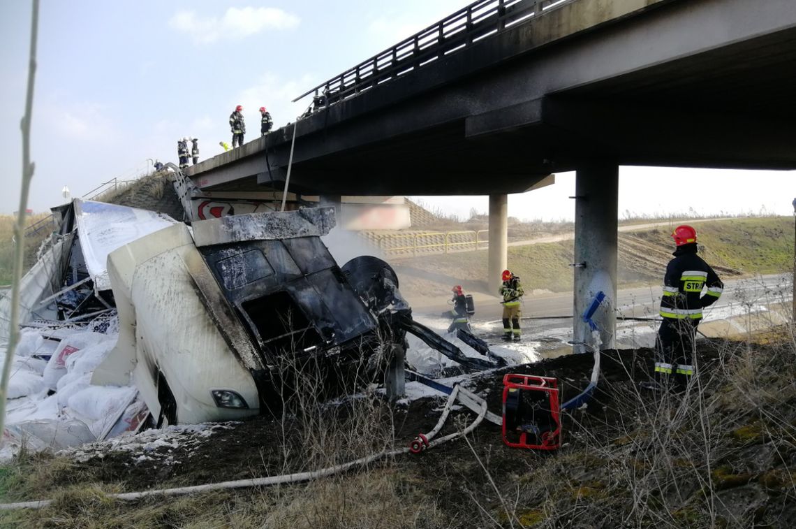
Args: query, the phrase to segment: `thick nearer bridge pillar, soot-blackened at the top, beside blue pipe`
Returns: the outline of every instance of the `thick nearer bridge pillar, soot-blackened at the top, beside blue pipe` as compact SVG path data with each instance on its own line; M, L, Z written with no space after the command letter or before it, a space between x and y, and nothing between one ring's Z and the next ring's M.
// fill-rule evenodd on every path
M576 342L592 347L615 347L616 258L619 168L616 163L596 162L578 167L575 183L575 300L573 335ZM592 338L583 313L595 294L606 299L592 316L600 343ZM576 353L587 352L583 345Z

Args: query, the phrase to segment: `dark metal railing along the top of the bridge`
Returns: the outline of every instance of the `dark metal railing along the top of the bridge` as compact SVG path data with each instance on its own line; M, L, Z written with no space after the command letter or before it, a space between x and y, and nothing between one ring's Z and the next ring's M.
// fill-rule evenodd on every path
M318 84L294 102L314 93L323 104L337 103L571 2L576 0L478 0Z

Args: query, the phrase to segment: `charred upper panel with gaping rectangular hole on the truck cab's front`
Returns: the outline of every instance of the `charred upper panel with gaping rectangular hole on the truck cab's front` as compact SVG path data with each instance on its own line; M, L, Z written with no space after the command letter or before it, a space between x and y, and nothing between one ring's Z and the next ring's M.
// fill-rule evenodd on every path
M375 327L319 237L200 251L267 364L345 347Z

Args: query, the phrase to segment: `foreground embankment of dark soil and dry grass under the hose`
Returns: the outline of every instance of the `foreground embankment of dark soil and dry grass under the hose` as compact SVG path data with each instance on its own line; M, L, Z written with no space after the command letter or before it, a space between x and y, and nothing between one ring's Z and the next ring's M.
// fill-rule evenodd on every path
M273 476L405 446L417 433L431 429L442 402L422 398L391 408L379 398L360 398L323 407L332 421L307 421L306 414L259 417L220 428L201 442L155 446L146 457L111 451L84 462L28 458L6 468L4 500L59 500L43 511L0 515L5 516L0 523L794 527L792 340L793 335L786 334L775 343L700 341L698 382L685 394L639 390L638 382L649 377L651 351L606 351L594 400L564 413L564 445L552 453L509 449L501 443L500 429L485 423L466 440L418 456L392 457L314 484L181 500L155 497L135 504L101 499L100 491ZM592 365L591 355L576 355L511 371L556 377L562 400L567 400L587 385ZM486 394L493 411L501 409L505 371L470 382ZM363 403L369 415L357 417ZM458 409L442 433L472 419L466 409Z

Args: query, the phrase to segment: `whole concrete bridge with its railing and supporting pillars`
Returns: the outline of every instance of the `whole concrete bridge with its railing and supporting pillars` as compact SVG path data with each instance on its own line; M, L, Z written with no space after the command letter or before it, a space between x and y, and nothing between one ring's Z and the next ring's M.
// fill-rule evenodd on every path
M577 315L596 290L615 299L619 165L796 167L794 67L792 0L480 0L188 174L205 190L281 190L290 172L291 191L327 202L489 194L497 282L506 194L576 170ZM683 192L710 200L700 182ZM612 311L599 324L610 346Z

